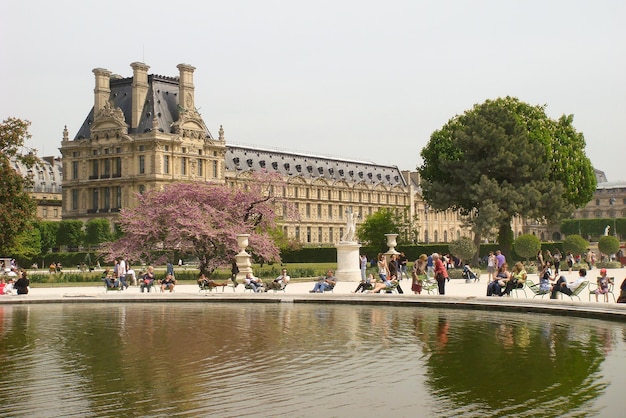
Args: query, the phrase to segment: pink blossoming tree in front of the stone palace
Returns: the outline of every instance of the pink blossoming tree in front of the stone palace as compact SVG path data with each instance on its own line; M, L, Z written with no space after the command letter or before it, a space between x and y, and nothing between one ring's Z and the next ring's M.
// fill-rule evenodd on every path
M139 203L120 213L123 236L105 246L108 259L161 263L174 253L197 257L205 274L229 264L238 251L237 234L250 234L248 252L279 261L268 233L276 226L273 189L277 175L247 173L244 188L202 182L172 183L138 195Z

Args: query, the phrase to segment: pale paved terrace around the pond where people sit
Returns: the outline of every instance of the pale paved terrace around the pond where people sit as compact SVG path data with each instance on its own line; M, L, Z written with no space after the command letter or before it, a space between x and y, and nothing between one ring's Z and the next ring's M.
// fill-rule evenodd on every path
M599 270L594 269L587 274L591 281ZM574 280L577 271L565 272L568 280ZM615 297L619 296L619 286L626 277L626 269L611 269L609 276L615 278ZM536 274L530 274L529 279L538 282ZM309 293L315 284L310 282L291 283L285 292L253 293L244 292L243 285L239 285L235 291L228 286L222 291L221 288L212 292L198 291L195 285L178 285L173 293L161 293L159 289L153 289L151 293L141 293L138 287L130 287L124 291L106 292L104 286L81 286L81 287L50 287L32 288L28 295L0 296L2 304L27 304L27 303L158 303L158 302L258 302L258 303L337 303L337 304L384 304L393 306L422 306L444 308L466 308L482 310L500 310L515 312L541 312L584 317L607 318L618 321L626 321L626 304L617 304L610 297L610 302L595 302L595 296L584 290L580 295L580 301L576 298L571 300L568 296L558 300L533 298L532 292L526 290L527 297L521 291L513 292L511 297L487 297L487 275L483 274L479 282L465 283L464 280L450 280L446 284L446 295L422 293L414 295L411 292L410 281L404 279L401 286L404 294L373 294L351 293L356 289L356 282L338 282L332 293L324 294ZM517 297L515 295L517 293Z

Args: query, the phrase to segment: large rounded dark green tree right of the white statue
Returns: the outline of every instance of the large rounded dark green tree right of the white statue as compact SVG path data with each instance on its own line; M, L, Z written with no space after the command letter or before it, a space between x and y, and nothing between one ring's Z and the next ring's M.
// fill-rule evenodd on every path
M425 201L465 215L477 244L498 231L507 252L514 217L554 223L593 196L593 167L572 121L512 97L475 105L433 132L422 150Z

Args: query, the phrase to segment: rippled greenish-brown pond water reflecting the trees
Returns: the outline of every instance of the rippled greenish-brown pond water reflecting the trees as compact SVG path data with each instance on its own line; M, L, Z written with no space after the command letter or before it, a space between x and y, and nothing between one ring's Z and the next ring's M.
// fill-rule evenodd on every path
M0 305L0 416L619 417L625 338L423 307Z

